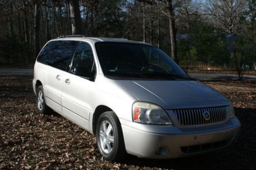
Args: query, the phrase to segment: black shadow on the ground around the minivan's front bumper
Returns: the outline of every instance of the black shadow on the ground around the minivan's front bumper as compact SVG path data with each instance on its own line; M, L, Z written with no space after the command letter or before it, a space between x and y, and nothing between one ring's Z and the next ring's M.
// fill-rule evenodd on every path
M237 143L209 154L176 159L144 159L129 156L120 163L166 169L253 169L256 149L256 109L234 108L242 127Z

